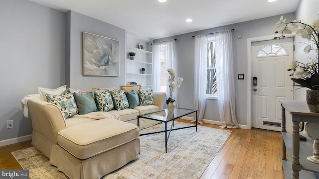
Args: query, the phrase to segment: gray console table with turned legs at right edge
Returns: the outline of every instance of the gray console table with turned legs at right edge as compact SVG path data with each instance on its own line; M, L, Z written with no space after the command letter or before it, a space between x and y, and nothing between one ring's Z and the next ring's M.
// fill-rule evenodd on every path
M299 140L301 121L319 123L319 113L310 112L306 101L280 100L282 105L283 169L286 179L318 179L319 164L307 160L313 155L313 140ZM293 132L286 131L286 110L292 115ZM286 159L286 149L290 160Z

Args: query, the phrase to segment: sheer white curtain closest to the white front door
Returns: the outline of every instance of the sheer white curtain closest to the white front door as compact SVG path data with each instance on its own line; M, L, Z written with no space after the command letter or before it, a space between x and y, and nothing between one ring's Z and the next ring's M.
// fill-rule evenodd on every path
M217 99L222 128L238 128L231 31L214 34L216 49Z

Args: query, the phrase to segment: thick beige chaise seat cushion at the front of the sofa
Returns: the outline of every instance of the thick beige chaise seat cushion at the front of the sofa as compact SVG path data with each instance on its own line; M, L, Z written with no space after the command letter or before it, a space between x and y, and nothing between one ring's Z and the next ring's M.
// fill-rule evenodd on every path
M138 126L116 119L73 125L58 132L59 146L79 159L88 159L139 138Z

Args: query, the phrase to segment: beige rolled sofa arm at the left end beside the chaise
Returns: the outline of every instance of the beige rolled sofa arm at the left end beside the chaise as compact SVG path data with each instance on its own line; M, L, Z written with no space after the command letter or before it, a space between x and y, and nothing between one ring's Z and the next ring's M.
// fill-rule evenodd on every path
M33 130L57 144L57 133L66 128L61 110L56 105L39 99L29 99L28 110Z

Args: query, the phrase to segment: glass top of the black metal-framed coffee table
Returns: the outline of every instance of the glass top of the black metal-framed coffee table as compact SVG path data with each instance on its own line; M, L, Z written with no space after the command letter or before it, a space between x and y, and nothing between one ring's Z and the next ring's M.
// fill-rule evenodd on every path
M173 116L169 115L169 117L167 117L168 110L164 109L164 110L160 110L160 111L156 111L156 112L142 114L142 115L139 115L138 117L153 119L153 120L162 121L162 122L168 122L168 121L177 119L179 117L182 117L184 115L193 113L195 111L196 110L194 110L194 109L184 109L184 108L175 107L174 112L173 112Z

